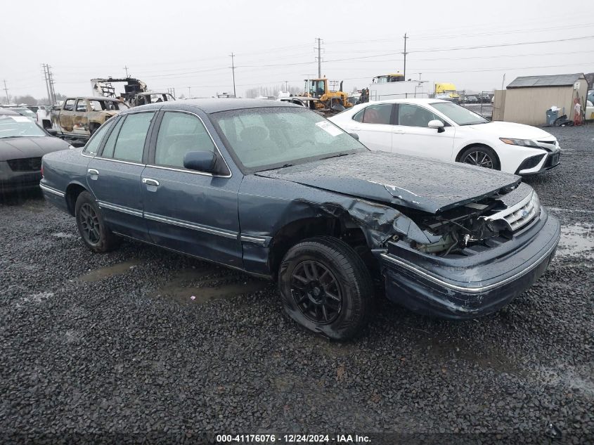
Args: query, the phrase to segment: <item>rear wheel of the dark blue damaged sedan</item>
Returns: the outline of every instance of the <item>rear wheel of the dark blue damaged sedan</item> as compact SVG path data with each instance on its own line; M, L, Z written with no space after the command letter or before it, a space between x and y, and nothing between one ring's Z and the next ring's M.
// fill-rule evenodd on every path
M101 209L91 193L84 191L78 195L75 216L80 237L90 250L103 253L117 247L119 240L105 225Z

